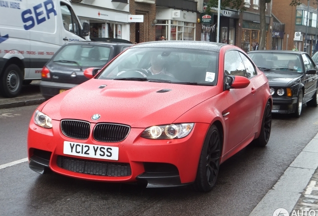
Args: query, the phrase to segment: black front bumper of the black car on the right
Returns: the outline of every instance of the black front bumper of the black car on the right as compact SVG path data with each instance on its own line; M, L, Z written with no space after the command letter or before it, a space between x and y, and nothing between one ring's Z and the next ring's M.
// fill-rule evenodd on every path
M296 110L297 97L272 97L273 105L271 112L292 113Z

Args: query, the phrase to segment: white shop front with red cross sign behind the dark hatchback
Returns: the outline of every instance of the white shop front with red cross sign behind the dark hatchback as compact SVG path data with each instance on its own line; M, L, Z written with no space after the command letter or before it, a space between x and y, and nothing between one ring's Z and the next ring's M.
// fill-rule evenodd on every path
M72 6L80 21L89 23L90 38L109 37L129 40L129 6L126 6L127 11L125 9L113 11L82 3L73 3Z

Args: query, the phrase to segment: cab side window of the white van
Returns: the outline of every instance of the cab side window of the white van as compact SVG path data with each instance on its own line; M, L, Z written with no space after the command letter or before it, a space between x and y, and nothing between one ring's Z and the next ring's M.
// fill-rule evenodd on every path
M69 7L69 5L63 2L60 2L60 9L62 13L63 26L65 30L68 30L70 32L73 32L74 34L79 35L79 31L78 31L79 24L73 10Z

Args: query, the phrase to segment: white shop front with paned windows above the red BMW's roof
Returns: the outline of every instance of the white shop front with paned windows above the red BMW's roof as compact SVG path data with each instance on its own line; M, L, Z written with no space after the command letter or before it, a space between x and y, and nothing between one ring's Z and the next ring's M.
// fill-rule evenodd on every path
M156 8L155 40L195 40L196 12Z

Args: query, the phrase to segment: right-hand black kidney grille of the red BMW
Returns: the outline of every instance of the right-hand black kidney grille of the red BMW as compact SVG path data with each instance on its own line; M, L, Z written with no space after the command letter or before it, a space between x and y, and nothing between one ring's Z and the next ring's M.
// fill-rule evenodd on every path
M102 142L118 142L126 138L130 127L122 124L98 123L94 127L93 137Z

